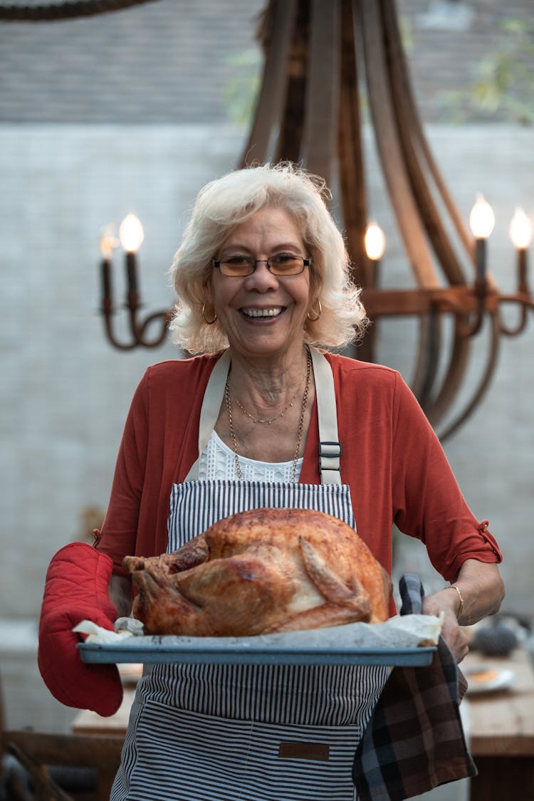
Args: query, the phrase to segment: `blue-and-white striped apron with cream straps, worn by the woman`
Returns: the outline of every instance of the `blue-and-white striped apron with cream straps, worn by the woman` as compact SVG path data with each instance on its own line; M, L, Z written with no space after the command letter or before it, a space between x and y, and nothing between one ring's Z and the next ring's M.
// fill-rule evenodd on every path
M319 352L312 360L323 484L199 481L195 463L171 491L167 553L264 506L316 509L355 528L339 476L331 369ZM228 364L223 356L207 386L199 453ZM146 665L110 801L354 801L352 759L388 674L387 666Z

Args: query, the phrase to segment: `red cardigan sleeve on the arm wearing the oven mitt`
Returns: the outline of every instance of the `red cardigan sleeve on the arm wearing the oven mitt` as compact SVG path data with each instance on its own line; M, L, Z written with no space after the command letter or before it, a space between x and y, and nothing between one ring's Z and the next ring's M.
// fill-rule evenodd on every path
M102 530L95 532L94 546L111 557L115 574L123 574L123 557L135 553L147 448L148 389L145 373L126 417Z

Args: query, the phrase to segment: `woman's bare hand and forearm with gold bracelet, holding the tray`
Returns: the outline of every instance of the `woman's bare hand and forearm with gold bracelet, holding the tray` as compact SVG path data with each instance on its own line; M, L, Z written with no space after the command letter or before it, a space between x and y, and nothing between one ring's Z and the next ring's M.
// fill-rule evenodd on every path
M455 589L457 587L457 590ZM454 586L444 587L423 600L423 613L445 613L441 635L457 662L468 653L468 638L460 626L472 626L488 614L496 614L504 598L498 566L468 559L460 568Z

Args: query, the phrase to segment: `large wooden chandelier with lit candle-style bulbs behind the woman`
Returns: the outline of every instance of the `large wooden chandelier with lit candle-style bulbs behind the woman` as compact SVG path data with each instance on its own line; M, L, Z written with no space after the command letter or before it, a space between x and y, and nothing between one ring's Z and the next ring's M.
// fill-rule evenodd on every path
M98 5L112 10L135 4L136 0L100 0L60 6L69 6L70 13L75 6L86 13L92 6L90 12L98 13ZM375 324L395 316L418 320L410 383L436 430L456 409L473 338L483 325L487 329L484 369L464 406L438 431L444 440L468 419L487 391L502 336L520 334L528 311L534 309L527 278L528 218L517 211L512 220L517 286L516 292L502 294L486 269L492 209L479 199L470 232L436 167L412 93L395 0L269 0L260 40L263 83L240 166L249 160L283 159L302 163L329 185L333 176L337 179L347 248L367 315ZM369 221L363 97L413 288L379 286L383 235ZM158 347L171 316L168 309L140 316L135 252L142 239L139 220L129 216L122 224L121 241L130 332L122 341L113 330L110 279L117 243L109 231L102 236L102 316L110 344L123 350ZM502 309L507 305L518 311L513 326L504 321ZM444 335L446 326L452 328L452 336ZM367 336L351 355L375 360L375 337Z

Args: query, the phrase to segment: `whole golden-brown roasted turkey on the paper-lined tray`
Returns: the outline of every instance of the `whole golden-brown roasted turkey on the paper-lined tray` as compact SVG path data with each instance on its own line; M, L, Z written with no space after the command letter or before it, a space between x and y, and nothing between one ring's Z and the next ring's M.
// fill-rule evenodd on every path
M391 582L336 517L252 509L212 525L175 553L127 556L146 634L272 634L388 617Z

